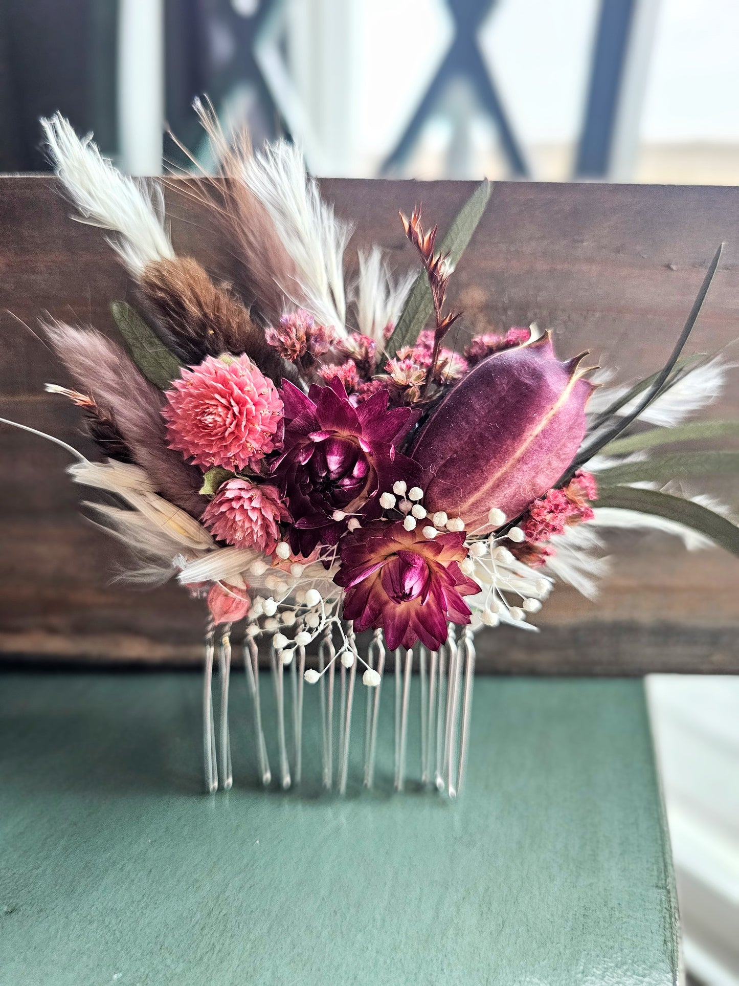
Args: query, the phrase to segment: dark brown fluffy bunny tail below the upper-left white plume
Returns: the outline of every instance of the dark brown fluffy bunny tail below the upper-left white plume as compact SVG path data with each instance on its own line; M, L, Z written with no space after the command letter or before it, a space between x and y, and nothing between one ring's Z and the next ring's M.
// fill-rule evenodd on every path
M227 285L215 284L191 257L148 264L140 278L144 301L182 358L245 353L275 383L292 376Z

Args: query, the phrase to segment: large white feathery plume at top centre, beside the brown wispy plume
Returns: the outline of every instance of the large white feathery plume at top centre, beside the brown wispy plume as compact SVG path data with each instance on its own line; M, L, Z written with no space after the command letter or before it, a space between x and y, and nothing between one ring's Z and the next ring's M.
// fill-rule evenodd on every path
M297 283L281 289L321 324L346 334L344 251L352 228L321 199L300 149L286 140L265 145L246 162L243 177L298 268Z

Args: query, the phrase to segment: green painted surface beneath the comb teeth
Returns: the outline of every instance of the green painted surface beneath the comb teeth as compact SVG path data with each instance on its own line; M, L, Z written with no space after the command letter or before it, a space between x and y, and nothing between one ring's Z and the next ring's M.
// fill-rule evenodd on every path
M240 675L236 786L201 795L199 687L0 676L3 986L676 981L640 682L479 678L456 804L390 793L389 688L376 793L249 787Z

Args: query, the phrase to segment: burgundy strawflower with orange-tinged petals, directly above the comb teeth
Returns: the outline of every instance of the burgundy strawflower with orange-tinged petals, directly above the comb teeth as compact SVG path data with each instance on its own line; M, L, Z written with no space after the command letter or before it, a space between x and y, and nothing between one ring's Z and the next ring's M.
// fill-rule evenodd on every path
M436 651L446 640L447 623L469 623L463 596L476 596L478 584L463 575L467 557L464 532L433 540L417 528L374 522L345 535L341 568L334 582L346 592L344 618L358 632L381 627L390 650L417 640Z

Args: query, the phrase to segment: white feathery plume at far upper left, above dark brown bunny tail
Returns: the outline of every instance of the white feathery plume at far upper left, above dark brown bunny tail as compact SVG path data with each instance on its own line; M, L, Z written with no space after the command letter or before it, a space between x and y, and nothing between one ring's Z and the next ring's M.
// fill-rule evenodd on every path
M82 219L120 234L110 240L134 276L156 260L173 259L164 226L164 196L154 183L123 176L101 157L92 134L80 139L61 113L42 119L57 176Z

